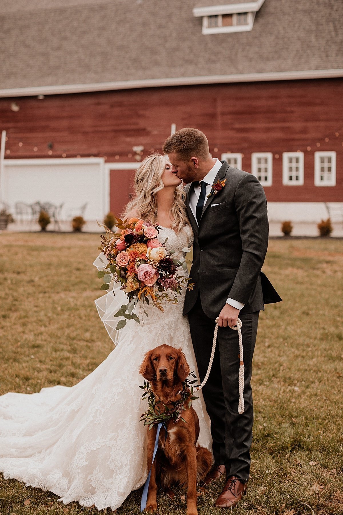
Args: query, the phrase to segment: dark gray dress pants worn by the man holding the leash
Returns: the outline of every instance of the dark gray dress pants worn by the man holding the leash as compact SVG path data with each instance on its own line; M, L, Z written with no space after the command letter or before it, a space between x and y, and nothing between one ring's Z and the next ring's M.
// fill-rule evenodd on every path
M247 482L250 469L254 422L250 379L259 313L239 315L244 358L244 413L238 413L240 359L237 331L229 327L218 328L211 373L202 390L211 420L214 463L225 465L227 477L236 476L242 483ZM200 295L188 318L200 381L203 381L210 360L215 321L205 315Z

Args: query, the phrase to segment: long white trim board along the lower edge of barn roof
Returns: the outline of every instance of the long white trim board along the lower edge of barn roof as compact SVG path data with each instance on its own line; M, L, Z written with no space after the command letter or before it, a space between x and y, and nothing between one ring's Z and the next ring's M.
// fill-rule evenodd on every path
M343 68L331 70L299 70L294 72L247 73L234 75L207 75L203 77L175 77L164 79L125 80L118 82L97 82L90 84L63 84L54 86L33 86L0 90L0 97L35 95L61 95L67 93L88 93L138 88L161 88L194 84L223 84L229 82L261 82L269 80L322 79L343 77Z

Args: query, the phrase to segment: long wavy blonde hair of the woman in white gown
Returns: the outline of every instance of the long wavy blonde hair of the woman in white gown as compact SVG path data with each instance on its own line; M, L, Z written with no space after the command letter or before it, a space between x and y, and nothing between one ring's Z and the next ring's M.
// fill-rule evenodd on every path
M125 206L122 214L124 218L137 216L143 220L150 220L152 224L157 224L156 193L164 188L162 176L165 164L166 158L160 154L152 154L141 162L135 173L134 196ZM185 198L184 188L177 186L170 210L171 218L174 220L171 227L176 232L183 232L184 228L189 226Z

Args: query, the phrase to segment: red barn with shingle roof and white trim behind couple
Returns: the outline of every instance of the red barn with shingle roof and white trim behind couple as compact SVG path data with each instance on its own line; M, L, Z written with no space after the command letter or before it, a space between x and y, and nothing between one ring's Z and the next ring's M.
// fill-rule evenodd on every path
M343 201L341 0L5 0L0 201L120 213L182 127L258 177L270 220Z

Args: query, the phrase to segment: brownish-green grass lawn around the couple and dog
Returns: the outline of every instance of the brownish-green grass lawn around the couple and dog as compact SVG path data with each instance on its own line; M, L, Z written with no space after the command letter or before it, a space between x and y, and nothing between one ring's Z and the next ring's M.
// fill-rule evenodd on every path
M71 386L112 342L94 299L99 235L0 234L0 394ZM261 313L252 388L251 478L237 515L343 513L343 240L274 239L263 270L283 302ZM221 490L198 497L198 511ZM139 513L141 491L118 515ZM158 497L159 514L185 513L185 491ZM97 513L0 479L0 515ZM110 513L110 510L107 510Z

